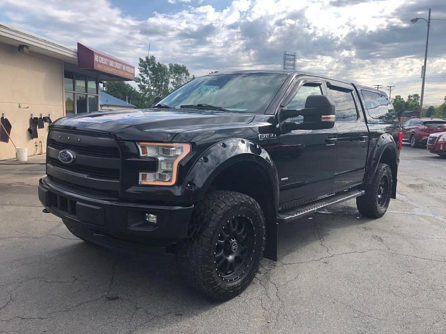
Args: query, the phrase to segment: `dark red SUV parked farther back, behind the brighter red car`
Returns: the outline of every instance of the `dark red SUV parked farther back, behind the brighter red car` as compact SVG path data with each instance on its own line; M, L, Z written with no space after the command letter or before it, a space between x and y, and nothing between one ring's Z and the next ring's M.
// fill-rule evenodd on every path
M403 141L411 147L425 146L430 134L446 130L446 121L439 118L412 118L402 126Z

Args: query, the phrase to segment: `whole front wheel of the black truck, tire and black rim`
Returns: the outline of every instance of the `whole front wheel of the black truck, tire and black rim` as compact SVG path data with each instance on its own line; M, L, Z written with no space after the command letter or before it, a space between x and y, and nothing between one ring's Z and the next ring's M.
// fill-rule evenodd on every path
M186 282L214 300L240 294L263 257L265 220L259 204L234 191L212 191L197 205L188 240L178 245Z

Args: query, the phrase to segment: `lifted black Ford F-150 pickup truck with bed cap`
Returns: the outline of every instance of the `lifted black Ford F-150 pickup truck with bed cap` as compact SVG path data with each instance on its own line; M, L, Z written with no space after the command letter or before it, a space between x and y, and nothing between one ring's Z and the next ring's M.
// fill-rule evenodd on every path
M211 298L236 296L276 259L280 224L353 198L379 218L396 196L401 131L381 91L240 71L156 100L54 122L39 198L83 240L166 246Z

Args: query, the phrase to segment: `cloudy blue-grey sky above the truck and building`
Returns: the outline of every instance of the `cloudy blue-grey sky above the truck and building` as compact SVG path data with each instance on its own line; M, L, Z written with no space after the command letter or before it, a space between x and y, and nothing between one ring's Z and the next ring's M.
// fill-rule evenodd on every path
M137 66L150 53L215 70L297 69L420 93L426 23L446 19L446 0L0 0L0 21L63 45L76 42ZM446 20L432 21L425 105L446 95Z

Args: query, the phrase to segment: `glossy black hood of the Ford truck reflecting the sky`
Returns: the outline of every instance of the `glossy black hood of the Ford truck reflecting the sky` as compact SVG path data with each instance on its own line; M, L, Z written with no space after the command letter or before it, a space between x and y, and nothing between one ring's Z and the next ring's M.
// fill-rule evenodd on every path
M189 130L243 125L254 114L214 110L130 109L77 114L59 118L56 127L113 133L121 140L169 142L176 134Z

